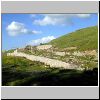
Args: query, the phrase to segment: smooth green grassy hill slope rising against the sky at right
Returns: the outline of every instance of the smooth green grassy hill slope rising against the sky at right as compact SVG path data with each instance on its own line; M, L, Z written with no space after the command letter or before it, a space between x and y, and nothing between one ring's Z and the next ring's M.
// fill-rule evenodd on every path
M98 48L98 27L88 27L66 34L52 40L52 44L58 48L77 47L78 50L93 50Z

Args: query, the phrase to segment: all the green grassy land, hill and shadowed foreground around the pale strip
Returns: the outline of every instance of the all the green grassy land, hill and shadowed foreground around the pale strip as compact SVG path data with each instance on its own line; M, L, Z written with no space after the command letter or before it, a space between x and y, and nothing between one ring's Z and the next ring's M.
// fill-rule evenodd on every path
M97 86L98 85L98 27L77 30L47 43L53 45L49 50L38 50L36 46L26 46L18 52L61 60L76 69L50 68L41 62L21 57L7 56L14 49L2 52L3 86ZM41 44L45 45L45 44ZM77 49L66 50L67 47ZM95 55L81 55L83 51L96 50ZM55 52L65 52L64 56ZM76 51L79 54L74 55Z

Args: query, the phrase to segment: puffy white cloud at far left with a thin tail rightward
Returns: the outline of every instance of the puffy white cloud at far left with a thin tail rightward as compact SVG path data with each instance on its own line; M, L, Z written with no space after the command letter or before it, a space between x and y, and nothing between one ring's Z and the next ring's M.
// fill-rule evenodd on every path
M8 34L10 36L17 36L19 34L38 34L40 33L41 31L36 31L36 30L28 30L26 27L25 27L25 24L23 23L19 23L19 22L11 22L6 30L8 31Z

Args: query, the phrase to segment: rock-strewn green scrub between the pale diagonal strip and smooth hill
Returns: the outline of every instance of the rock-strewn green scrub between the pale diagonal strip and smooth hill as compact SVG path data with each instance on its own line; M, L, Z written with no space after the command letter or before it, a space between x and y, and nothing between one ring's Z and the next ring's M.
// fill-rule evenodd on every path
M70 55L65 54L64 56L59 56L55 55L53 52L46 51L46 50L23 50L22 52L30 55L35 55L35 56L43 56L43 57L48 57L51 59L56 59L56 60L61 60L63 62L67 63L73 63L77 66L80 66L82 68L86 69L93 69L98 66L98 59L96 56L92 55L85 55L85 56L75 56L72 54L72 51L70 52ZM74 51L73 51L74 52Z

